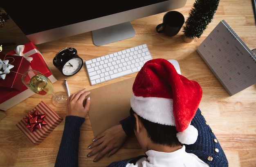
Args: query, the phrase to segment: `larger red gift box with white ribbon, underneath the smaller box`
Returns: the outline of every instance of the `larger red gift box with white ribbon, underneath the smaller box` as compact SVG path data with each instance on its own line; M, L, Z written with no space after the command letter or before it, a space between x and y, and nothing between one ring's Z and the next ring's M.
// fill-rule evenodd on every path
M30 68L36 69L39 72L43 73L46 77L49 78L52 83L56 82L57 79L52 75L52 72L45 62L43 55L38 51L36 46L32 42L28 42L25 45L25 49L23 51L24 57L32 57L33 60L30 63ZM14 55L16 52L13 50L8 55ZM22 89L20 92L17 91L4 91L0 90L0 110L8 110L14 105L20 103L21 101L27 99L28 97L35 94L31 90L29 90L24 84L22 84Z

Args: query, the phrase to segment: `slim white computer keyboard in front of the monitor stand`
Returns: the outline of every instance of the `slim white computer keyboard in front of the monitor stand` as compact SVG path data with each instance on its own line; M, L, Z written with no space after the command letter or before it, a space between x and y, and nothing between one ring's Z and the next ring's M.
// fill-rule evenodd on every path
M91 85L138 72L152 59L148 46L142 44L123 51L85 61Z

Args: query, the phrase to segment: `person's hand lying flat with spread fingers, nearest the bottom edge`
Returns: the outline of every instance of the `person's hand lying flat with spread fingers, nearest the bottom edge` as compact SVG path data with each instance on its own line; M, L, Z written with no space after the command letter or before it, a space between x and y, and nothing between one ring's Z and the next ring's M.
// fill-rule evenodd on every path
M121 124L110 127L108 130L102 132L92 140L93 143L89 145L88 149L93 147L97 148L89 152L87 156L91 157L99 152L93 162L97 162L106 154L108 154L109 157L115 154L117 150L122 147L126 138L127 135Z

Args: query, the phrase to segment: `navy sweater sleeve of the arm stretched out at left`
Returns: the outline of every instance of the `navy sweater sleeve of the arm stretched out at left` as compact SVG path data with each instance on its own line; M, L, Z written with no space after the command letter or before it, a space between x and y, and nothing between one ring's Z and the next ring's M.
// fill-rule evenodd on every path
M80 127L85 118L66 116L55 167L78 167Z

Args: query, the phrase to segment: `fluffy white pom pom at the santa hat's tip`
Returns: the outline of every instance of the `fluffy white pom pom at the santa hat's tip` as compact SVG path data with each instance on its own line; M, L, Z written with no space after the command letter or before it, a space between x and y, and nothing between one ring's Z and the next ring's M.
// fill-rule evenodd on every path
M189 125L186 130L178 132L176 136L182 144L194 144L198 139L198 130L193 125Z

